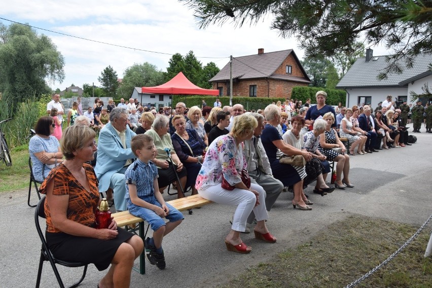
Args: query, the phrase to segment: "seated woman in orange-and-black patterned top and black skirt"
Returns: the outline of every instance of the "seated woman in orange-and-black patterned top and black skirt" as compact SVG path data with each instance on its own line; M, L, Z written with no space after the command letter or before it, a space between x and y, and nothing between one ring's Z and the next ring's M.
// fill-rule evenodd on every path
M98 287L129 287L133 261L141 254L140 237L117 228L94 228L99 203L98 181L85 163L97 150L95 132L83 125L68 127L61 150L66 160L52 169L41 186L46 194L46 239L56 258L93 263L101 271L111 265Z

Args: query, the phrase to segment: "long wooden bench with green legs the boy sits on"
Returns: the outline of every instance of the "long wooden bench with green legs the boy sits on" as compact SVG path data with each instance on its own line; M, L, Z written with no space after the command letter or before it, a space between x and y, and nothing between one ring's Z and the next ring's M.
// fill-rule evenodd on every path
M192 195L185 198L175 199L171 201L167 201L172 207L177 209L178 211L186 211L192 208L202 207L205 204L211 203L210 200L204 199L200 195ZM133 216L129 213L129 211L123 211L113 214L114 220L117 222L118 227L125 227L126 229L132 228L133 231L138 229L138 236L141 237L142 241L146 239L147 231L149 230L149 226L147 230L145 229L145 221L142 218ZM136 227L136 225L138 227ZM146 231L145 231L146 230ZM133 268L138 271L140 274L146 273L146 260L145 253L143 251L139 256L139 269Z

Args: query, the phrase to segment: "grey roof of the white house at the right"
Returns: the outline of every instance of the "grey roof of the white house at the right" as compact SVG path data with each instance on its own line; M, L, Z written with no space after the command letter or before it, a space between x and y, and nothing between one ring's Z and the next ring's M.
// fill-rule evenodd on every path
M432 74L428 70L428 65L432 62L432 54L423 53L416 56L412 68L406 68L404 60L400 60L404 71L401 74L389 73L388 78L384 80L378 80L377 76L384 71L383 69L389 62L386 62L385 56L374 56L372 59L375 60L366 62L366 58L358 58L336 85L336 88L404 87L411 81Z

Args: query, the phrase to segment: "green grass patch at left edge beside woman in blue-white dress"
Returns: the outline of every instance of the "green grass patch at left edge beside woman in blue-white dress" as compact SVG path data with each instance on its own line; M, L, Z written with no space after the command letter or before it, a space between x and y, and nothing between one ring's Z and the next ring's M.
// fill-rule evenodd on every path
M28 187L30 169L28 168L28 145L21 145L11 151L12 166L0 163L0 193L13 192Z

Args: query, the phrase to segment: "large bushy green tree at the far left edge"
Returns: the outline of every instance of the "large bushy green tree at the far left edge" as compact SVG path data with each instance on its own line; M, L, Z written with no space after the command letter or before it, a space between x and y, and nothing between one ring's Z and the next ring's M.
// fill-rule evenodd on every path
M61 83L63 66L63 56L46 35L27 25L0 25L0 91L14 102L51 93L46 79Z

